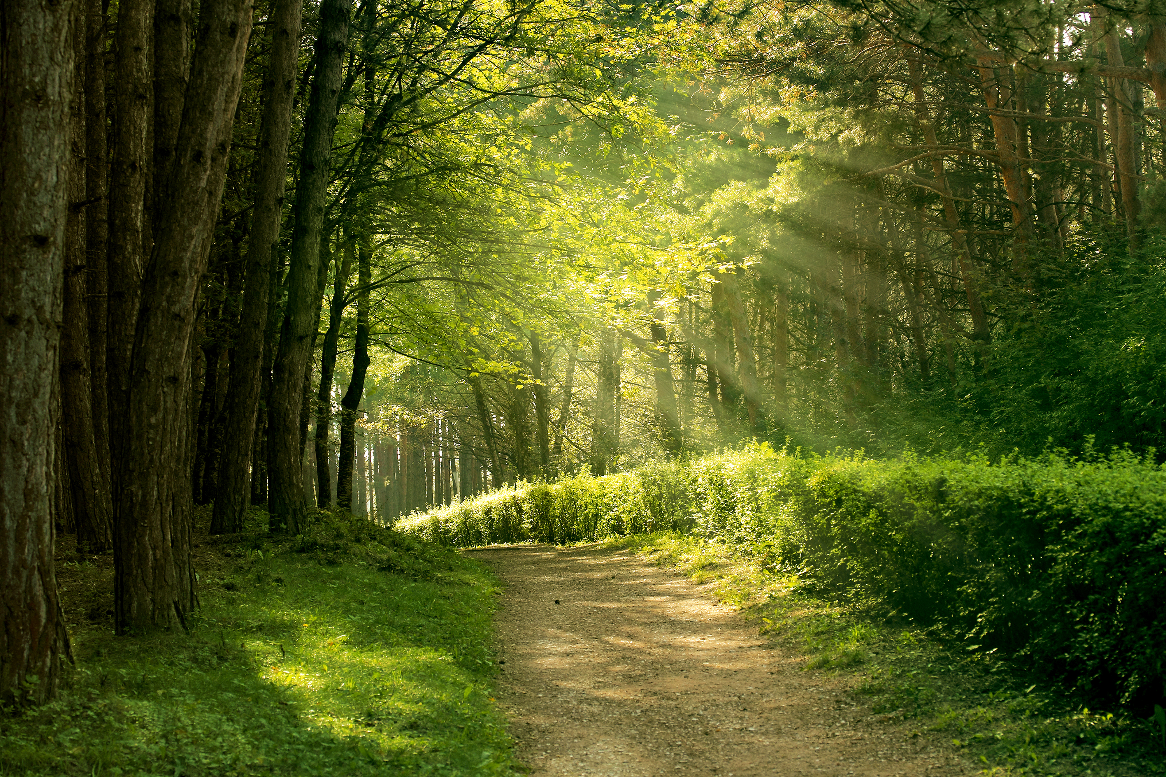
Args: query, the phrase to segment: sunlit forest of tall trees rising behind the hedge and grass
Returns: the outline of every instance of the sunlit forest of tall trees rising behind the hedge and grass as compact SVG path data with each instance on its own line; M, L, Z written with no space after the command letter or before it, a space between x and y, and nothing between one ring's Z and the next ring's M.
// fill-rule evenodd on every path
M1153 2L0 5L0 694L55 533L119 634L210 531L737 441L1160 459ZM34 680L29 680L34 678Z

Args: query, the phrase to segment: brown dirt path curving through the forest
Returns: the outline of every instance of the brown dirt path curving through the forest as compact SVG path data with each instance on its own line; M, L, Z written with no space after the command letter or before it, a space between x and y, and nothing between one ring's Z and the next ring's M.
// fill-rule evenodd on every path
M472 554L506 583L499 701L539 777L974 774L767 649L710 586L596 545Z

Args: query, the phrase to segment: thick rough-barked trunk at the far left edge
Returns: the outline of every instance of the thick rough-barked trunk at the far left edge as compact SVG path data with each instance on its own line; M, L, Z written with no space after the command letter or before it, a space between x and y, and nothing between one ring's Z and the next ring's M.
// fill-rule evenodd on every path
M52 471L75 4L0 4L0 704L51 698L69 654ZM20 365L21 369L10 369Z

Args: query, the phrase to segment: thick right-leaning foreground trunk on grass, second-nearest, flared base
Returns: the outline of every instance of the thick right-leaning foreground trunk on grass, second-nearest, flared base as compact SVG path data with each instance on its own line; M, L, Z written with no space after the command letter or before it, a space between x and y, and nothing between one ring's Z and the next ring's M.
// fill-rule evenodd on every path
M250 0L205 4L171 173L142 284L115 527L119 634L184 625L190 559L192 368L198 294L223 195L251 36Z

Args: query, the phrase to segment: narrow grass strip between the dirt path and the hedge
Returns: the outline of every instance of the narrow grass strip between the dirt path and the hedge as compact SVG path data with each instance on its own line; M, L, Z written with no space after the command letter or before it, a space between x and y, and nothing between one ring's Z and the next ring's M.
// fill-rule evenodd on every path
M984 775L1166 774L1166 716L1158 723L1088 709L1023 667L949 649L942 634L874 617L862 603L810 595L796 575L722 544L680 533L607 542L715 582L771 644L805 656L806 671L847 676L852 700L876 721L942 737Z

